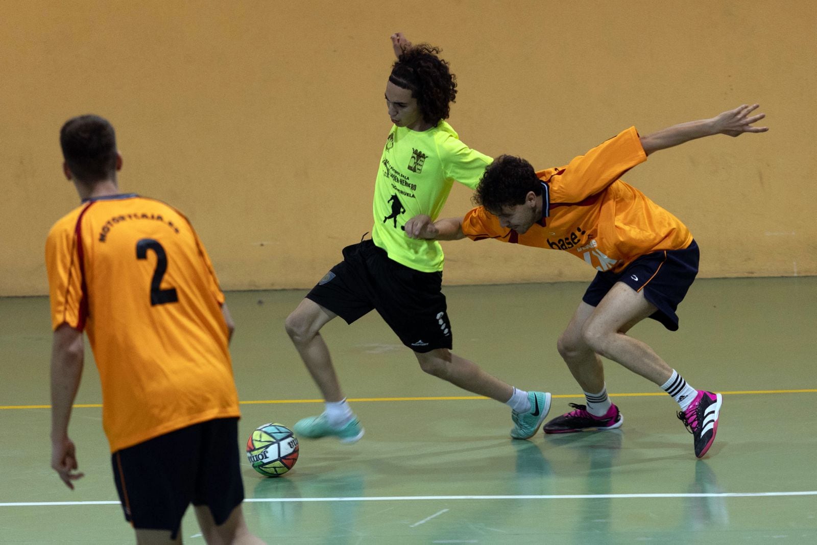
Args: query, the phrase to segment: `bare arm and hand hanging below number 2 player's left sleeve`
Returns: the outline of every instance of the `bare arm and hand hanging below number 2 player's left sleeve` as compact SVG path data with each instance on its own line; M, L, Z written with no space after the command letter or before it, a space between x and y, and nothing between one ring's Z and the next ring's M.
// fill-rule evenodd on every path
M72 490L71 481L83 477L83 473L74 473L77 452L68 436L71 406L83 376L83 356L83 333L68 324L56 328L51 346L51 467Z

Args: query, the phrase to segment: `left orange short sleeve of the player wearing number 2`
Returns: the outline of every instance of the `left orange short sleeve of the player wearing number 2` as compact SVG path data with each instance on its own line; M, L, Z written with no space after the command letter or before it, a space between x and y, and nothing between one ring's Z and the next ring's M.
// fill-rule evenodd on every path
M83 277L74 230L58 222L46 239L46 270L51 302L51 328L62 324L80 331L85 327Z

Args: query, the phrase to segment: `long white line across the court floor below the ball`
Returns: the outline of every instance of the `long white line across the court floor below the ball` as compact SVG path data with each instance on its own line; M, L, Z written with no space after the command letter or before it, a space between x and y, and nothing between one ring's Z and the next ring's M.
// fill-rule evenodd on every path
M520 496L364 496L360 498L246 498L245 502L400 502L440 499L631 499L631 498L762 498L777 496L817 496L817 490L794 492L717 492L696 494L549 494ZM9 502L0 507L39 507L51 505L119 505L119 502Z

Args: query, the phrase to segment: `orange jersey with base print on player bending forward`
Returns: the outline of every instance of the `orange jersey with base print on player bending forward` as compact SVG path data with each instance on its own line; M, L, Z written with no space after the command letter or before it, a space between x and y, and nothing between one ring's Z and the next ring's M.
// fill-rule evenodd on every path
M597 270L614 272L647 253L686 248L690 230L619 179L646 159L636 127L630 127L565 167L536 173L544 214L524 235L500 226L483 207L466 214L462 232L473 240L563 250Z

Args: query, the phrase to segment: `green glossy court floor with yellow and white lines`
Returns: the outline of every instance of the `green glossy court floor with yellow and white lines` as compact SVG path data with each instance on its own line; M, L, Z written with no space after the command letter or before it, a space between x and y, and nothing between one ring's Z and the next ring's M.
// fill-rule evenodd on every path
M551 416L565 412L583 398L556 338L584 287L446 288L454 351L553 392ZM283 331L303 295L228 293L241 438L322 410ZM676 404L612 362L620 430L514 441L507 407L422 373L377 315L337 319L324 337L366 436L301 440L278 479L246 463L248 523L268 543L817 543L817 278L699 280L679 314L676 333L650 321L631 334L724 394L703 460ZM92 359L70 428L86 474L72 492L49 467L47 299L0 299L0 325L0 543L132 543ZM203 543L191 512L182 535Z

